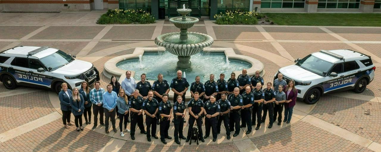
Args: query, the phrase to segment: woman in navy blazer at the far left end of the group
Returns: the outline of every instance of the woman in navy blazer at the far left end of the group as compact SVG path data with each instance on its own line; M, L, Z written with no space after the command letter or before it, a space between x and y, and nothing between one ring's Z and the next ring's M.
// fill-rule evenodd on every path
M72 91L70 89L67 89L66 83L62 83L61 87L62 87L62 90L58 93L58 99L59 99L59 104L61 105L62 122L64 123L65 128L70 128L69 126L73 125L72 123L70 123L70 115L71 115L70 99L72 98Z

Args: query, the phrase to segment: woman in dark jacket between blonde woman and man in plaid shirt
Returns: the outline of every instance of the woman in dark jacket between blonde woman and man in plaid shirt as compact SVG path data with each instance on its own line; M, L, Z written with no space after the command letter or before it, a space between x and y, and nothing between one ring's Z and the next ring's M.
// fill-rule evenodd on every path
M85 99L85 104L84 107L85 109L83 110L83 116L85 117L85 123L91 124L91 107L92 103L90 101L90 87L89 84L86 81L83 81L81 84L81 89L79 89L79 93L81 93L83 99ZM88 118L87 118L88 117Z

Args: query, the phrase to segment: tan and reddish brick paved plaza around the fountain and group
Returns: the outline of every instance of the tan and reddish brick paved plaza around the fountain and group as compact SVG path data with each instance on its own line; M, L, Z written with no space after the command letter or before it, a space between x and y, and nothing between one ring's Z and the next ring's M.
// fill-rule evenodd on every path
M102 13L59 13L53 18L49 13L0 13L0 49L20 45L61 49L93 63L101 73L101 87L106 88L110 80L102 71L107 60L132 54L136 47L156 47L158 35L178 31L166 20L149 25L95 24ZM25 19L14 19L20 16ZM236 54L261 61L265 82L272 82L279 68L320 49L353 49L370 55L377 67L375 79L360 94L330 93L314 105L297 101L289 124L275 122L269 129L266 119L259 130L246 135L247 128L242 128L230 140L222 128L216 142L209 137L200 145L185 140L177 145L173 139L167 139L166 145L160 139L148 142L138 131L135 140L129 133L125 137L113 131L106 135L104 126L92 131L93 124L84 121L84 131L77 132L75 126L65 129L56 93L22 86L8 90L0 84L0 151L381 152L380 27L216 25L205 19L189 31L212 36L216 40L212 47L231 47ZM71 120L74 123L73 116ZM173 130L171 123L172 137ZM184 127L184 134L187 130Z

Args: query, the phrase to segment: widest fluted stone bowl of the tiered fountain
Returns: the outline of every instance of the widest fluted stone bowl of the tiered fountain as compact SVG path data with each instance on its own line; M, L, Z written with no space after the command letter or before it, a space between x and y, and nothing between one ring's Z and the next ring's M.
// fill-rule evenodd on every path
M180 32L166 33L155 38L158 46L165 47L171 54L182 57L197 54L213 42L211 36L196 32L188 32L187 40L180 40Z

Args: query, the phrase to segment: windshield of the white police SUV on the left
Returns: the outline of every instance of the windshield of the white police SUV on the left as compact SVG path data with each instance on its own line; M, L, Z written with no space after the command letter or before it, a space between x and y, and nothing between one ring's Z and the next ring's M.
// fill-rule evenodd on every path
M53 71L66 65L67 63L72 62L74 59L65 52L58 50L57 52L43 57L40 60L46 67L51 67L51 71Z

